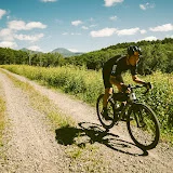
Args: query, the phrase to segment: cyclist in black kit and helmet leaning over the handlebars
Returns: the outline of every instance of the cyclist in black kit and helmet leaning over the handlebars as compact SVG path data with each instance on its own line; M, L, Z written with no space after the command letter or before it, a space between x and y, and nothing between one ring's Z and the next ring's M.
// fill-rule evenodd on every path
M128 85L124 84L121 74L130 70L132 75L132 80L136 83L145 85L147 89L150 89L151 85L149 82L145 82L144 80L137 77L137 63L139 61L139 56L142 55L142 51L139 46L130 45L128 48L128 54L125 56L117 55L110 59L108 59L103 66L103 80L105 85L105 95L103 101L103 116L106 120L109 120L107 114L107 102L110 94L112 94L112 84L118 88L119 92L130 92ZM121 104L121 107L124 104Z

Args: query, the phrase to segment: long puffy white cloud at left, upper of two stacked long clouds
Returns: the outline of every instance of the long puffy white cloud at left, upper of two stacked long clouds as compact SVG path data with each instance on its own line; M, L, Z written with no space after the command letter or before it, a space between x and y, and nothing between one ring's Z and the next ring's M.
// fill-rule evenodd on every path
M8 23L8 27L14 30L31 30L34 28L44 29L46 25L43 25L40 22L30 22L26 24L24 21L11 21Z

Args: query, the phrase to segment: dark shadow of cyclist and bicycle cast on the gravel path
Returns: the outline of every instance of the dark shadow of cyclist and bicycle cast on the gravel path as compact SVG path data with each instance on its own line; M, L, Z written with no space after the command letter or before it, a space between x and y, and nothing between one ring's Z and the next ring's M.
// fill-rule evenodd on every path
M102 125L90 122L78 123L79 128L63 127L55 130L55 138L62 145L77 145L85 147L88 143L99 143L116 151L131 156L148 156L146 150L138 148L135 144L123 141L120 136L105 131ZM134 152L134 147L136 151Z

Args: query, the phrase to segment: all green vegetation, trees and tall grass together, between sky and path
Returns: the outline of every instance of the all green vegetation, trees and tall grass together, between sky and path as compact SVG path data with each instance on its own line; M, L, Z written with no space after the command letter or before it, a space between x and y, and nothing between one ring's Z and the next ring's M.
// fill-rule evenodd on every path
M156 112L162 136L173 141L173 39L118 43L80 56L63 57L59 53L36 53L0 48L0 64L13 72L61 89L65 93L95 105L103 93L102 66L110 57L127 54L131 44L139 45L143 57L138 64L141 78L150 81L154 90L146 96L137 92L142 102ZM124 75L127 83L131 77Z

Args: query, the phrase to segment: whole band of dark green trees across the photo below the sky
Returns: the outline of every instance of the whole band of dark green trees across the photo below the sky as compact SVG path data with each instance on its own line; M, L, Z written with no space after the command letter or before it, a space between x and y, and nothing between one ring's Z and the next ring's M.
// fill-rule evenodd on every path
M104 48L99 51L84 53L80 56L64 57L59 53L40 53L31 51L0 48L0 64L25 64L41 67L57 67L64 65L84 66L88 69L99 70L103 64L118 54L125 55L129 45L142 48L143 56L138 64L141 75L152 71L173 71L173 39L165 38L156 41L124 42Z

